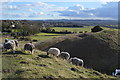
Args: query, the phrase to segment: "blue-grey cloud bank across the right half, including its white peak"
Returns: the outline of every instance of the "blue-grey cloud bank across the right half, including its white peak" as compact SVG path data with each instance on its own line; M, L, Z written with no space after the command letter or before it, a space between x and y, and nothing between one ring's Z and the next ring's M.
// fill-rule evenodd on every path
M76 17L76 18L111 18L118 17L118 3L109 2L103 4L99 8L84 8L82 5L74 5L66 10L58 11L60 16Z

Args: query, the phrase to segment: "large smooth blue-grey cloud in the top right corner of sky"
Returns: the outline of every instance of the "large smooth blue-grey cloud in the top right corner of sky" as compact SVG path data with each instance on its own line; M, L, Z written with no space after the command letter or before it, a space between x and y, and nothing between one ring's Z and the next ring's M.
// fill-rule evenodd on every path
M104 4L101 8L96 8L93 13L97 17L107 17L112 19L118 18L118 3L109 2Z

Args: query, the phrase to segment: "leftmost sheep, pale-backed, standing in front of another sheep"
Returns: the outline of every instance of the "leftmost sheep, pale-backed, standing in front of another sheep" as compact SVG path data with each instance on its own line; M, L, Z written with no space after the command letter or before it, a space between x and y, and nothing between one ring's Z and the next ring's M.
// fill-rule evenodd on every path
M4 42L4 44L3 44L3 48L5 48L6 50L8 49L11 49L11 50L15 50L15 42L14 41L12 41L12 40L8 40L8 39L5 39L5 42ZM13 51L13 53L15 53L14 51Z

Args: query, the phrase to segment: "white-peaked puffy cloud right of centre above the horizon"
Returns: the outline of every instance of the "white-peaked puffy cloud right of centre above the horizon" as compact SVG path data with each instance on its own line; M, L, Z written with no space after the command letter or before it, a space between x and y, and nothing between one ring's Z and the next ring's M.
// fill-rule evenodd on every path
M58 11L58 12L60 13L60 16L79 17L79 18L93 17L94 14L92 12L86 12L87 10L89 9L84 8L82 5L77 4L67 8L66 10Z

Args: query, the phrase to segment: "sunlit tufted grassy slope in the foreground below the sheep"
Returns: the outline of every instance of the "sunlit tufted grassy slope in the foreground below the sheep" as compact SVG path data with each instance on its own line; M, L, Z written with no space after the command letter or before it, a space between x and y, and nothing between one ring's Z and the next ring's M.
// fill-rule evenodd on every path
M46 52L38 50L35 51L34 55L29 54L29 52L16 52L16 54L3 53L2 56L3 78L43 78L43 76L55 78L112 78L92 69L74 66L60 58L48 57ZM21 61L26 63L20 63ZM40 66L41 64L45 66ZM72 71L71 68L76 68L77 71Z

